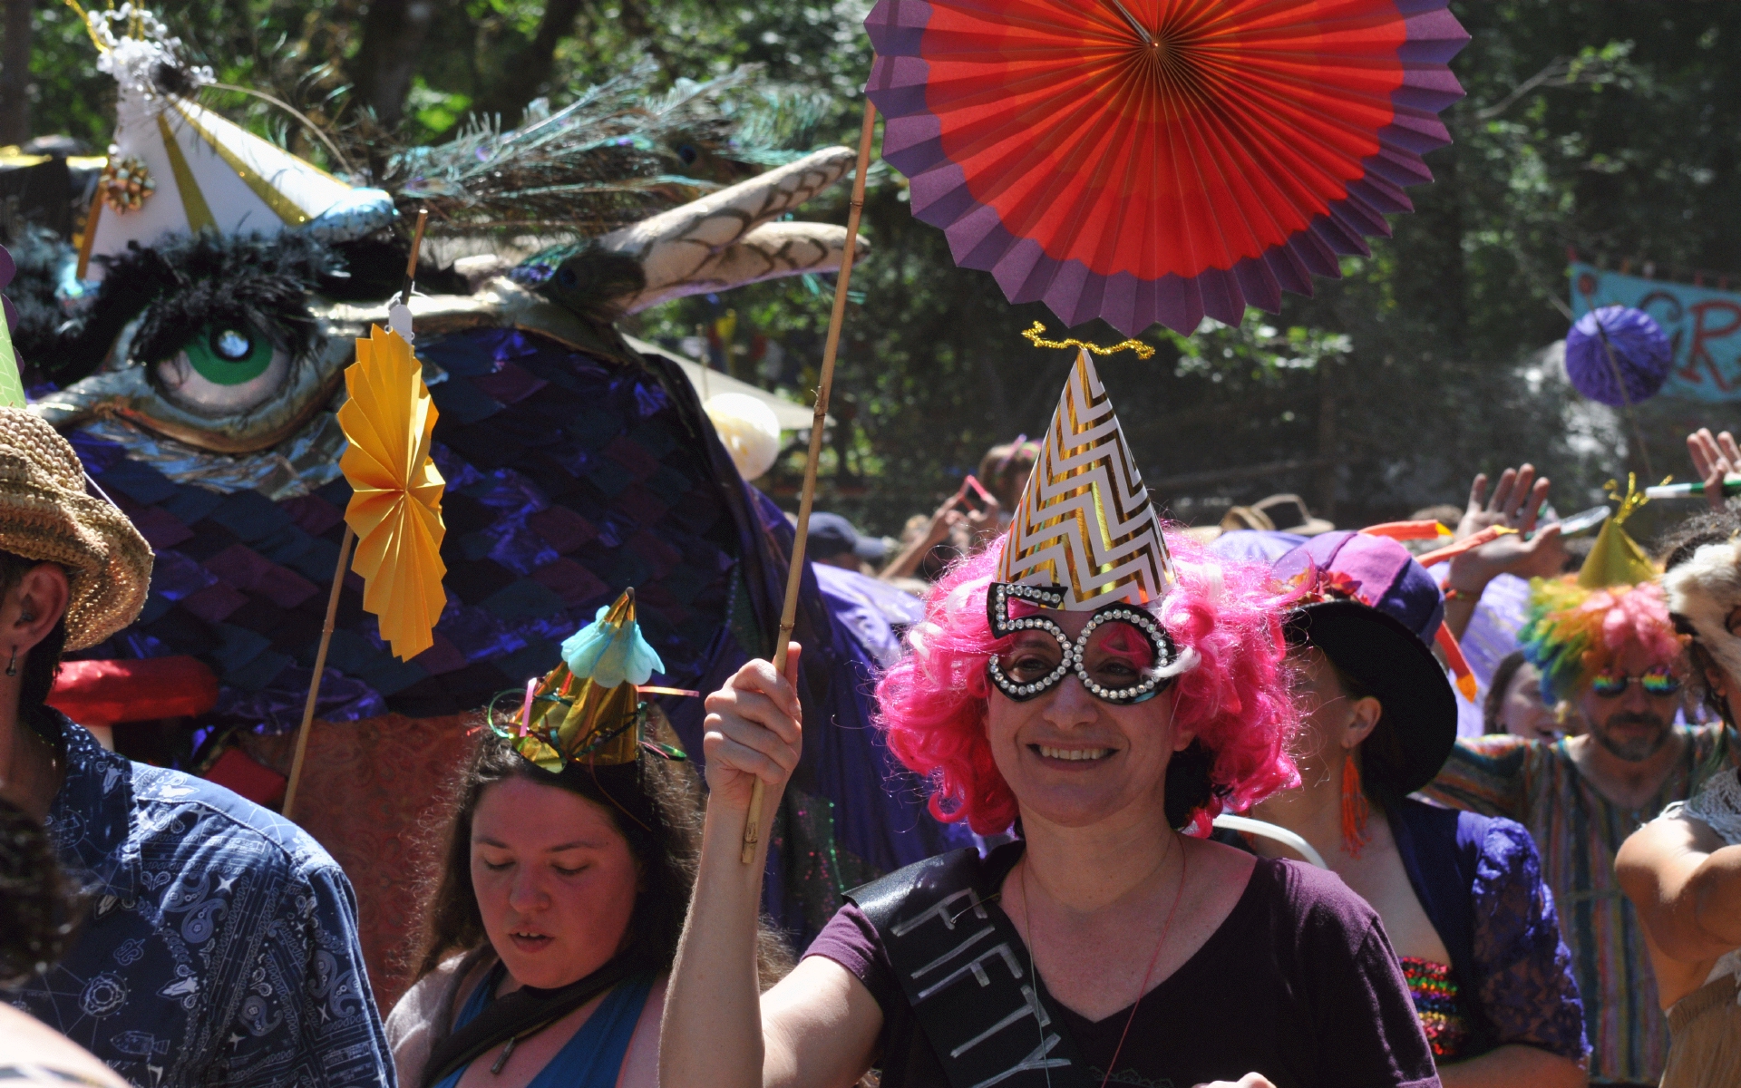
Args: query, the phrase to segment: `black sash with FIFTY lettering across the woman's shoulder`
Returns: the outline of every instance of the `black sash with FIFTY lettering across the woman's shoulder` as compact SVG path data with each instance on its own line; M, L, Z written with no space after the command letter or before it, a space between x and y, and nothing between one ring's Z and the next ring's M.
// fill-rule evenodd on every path
M1090 1088L1076 1041L994 902L1018 853L1012 844L982 863L978 851L956 850L846 898L876 926L951 1088Z

